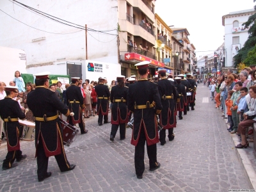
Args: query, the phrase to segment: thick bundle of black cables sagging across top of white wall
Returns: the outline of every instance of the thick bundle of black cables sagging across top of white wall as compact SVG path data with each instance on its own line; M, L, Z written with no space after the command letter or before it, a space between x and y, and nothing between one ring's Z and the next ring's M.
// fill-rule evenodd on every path
M8 1L11 1L11 0L8 0ZM60 19L60 18L58 18L58 17L54 17L53 15L49 15L49 14L47 14L47 13L41 12L40 10L36 10L35 8L32 8L32 7L30 7L30 6L26 5L26 4L20 3L19 1L15 1L15 0L12 0L12 1L14 1L15 4L16 4L16 3L21 4L22 6L28 8L29 10L31 10L32 12L36 12L36 13L38 13L38 14L40 14L40 15L43 15L44 17L47 17L47 18L49 18L49 19L51 19L51 20L55 20L56 22L60 22L61 24L65 24L65 25L67 25L67 26L71 26L71 27L78 28L78 29L84 29L84 28L85 28L84 26L81 26L81 25L78 25L78 24L74 24L73 22L68 22L67 20L63 20L63 19ZM17 4L17 5L18 5L18 4ZM38 14L37 14L37 15L38 15ZM49 16L47 16L47 15L49 15ZM51 17L56 18L56 19L58 19L58 20L53 19L53 18L51 18ZM63 20L64 22L61 22L60 20ZM70 24L74 24L74 25L76 25L76 26L72 26L72 25L67 24L67 23L65 23L65 22L68 22L68 23L70 23ZM79 26L79 27L77 27L77 26ZM99 33L105 33L106 35L115 35L115 34L111 34L111 33L106 33L105 31L97 31L97 30L91 29L91 28L87 28L87 30L88 30L88 31L93 31L93 32L99 32ZM115 31L115 30L116 30L116 29L112 29L112 30L108 30L108 31Z

